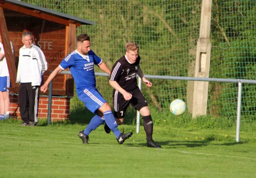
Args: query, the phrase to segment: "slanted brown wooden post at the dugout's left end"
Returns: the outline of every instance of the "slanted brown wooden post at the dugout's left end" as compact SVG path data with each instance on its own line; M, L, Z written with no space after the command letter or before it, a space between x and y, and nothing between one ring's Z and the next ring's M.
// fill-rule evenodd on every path
M2 37L2 43L4 46L4 56L7 61L12 88L16 88L19 87L19 84L16 83L17 71L15 67L15 60L12 53L12 47L9 40L9 34L5 22L3 8L0 8L0 35Z

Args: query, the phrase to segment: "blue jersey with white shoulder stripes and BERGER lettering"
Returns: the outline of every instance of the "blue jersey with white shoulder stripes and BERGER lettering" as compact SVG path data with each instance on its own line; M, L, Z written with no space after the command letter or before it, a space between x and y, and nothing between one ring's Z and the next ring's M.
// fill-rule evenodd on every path
M79 91L81 90L96 87L94 65L101 63L102 59L92 50L87 55L80 54L75 50L62 60L59 67L62 70L70 69L79 95Z

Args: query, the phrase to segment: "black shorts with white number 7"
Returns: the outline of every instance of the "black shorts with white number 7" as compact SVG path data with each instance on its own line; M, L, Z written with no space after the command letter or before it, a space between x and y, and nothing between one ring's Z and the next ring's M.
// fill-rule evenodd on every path
M132 107L137 111L141 108L148 106L148 103L141 93L139 87L136 87L133 91L127 91L132 94L132 99L126 101L124 96L117 90L113 93L113 106L114 106L114 116L118 119L124 118L125 111L131 103Z

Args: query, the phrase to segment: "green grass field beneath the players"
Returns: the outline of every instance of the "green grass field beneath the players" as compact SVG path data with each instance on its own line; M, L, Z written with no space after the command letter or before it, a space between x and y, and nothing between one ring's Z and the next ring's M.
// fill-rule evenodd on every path
M256 133L235 130L181 129L155 126L153 138L161 149L147 148L145 133L118 145L101 125L83 145L77 134L85 124L41 120L37 127L21 121L0 121L0 178L255 178Z

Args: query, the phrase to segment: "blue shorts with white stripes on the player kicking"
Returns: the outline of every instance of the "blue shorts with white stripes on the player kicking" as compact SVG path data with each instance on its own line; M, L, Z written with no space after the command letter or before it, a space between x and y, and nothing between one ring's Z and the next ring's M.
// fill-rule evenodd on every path
M97 112L97 110L107 102L99 93L96 88L87 88L83 92L80 92L78 96L79 100L83 101L84 105L92 113Z

